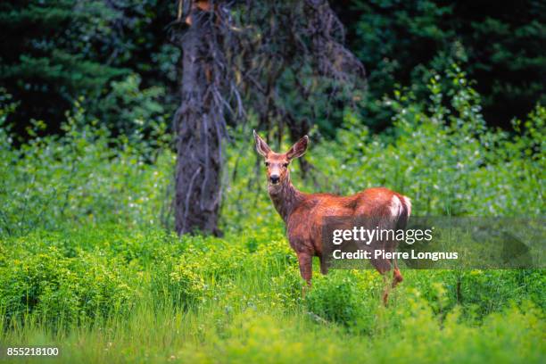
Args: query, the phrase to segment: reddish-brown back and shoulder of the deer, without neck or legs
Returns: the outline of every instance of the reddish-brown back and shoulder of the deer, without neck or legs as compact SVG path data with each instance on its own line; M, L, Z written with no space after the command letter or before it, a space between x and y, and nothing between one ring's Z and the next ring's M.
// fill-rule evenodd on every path
M322 253L325 217L389 218L409 216L409 199L385 187L368 188L351 196L305 194L286 221L288 240L296 252Z

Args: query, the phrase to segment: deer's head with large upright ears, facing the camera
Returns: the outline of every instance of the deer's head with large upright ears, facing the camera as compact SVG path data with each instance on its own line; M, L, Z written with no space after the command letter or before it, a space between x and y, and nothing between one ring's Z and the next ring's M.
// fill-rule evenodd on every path
M256 141L256 151L264 158L264 163L268 169L268 185L272 188L281 186L290 180L290 171L288 166L295 158L301 157L307 150L309 136L303 136L286 153L275 153L269 148L269 145L254 130L254 139Z

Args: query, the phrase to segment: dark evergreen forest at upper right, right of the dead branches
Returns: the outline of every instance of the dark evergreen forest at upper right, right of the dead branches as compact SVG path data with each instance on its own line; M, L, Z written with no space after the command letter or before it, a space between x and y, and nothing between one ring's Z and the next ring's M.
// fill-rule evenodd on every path
M541 1L354 1L346 17L350 47L367 66L369 94L362 112L368 125L389 126L376 100L396 84L412 85L421 98L426 79L450 62L462 64L483 95L485 120L509 128L534 103L546 102L542 52L546 25ZM444 87L449 86L448 83Z

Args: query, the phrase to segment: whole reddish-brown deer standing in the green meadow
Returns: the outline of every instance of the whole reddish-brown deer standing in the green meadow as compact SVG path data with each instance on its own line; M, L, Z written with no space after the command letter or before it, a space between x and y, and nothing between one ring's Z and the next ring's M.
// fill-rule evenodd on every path
M327 274L327 257L323 254L322 233L327 217L373 219L382 228L404 228L411 213L411 201L407 196L386 187L372 187L357 194L307 194L299 191L290 179L289 166L300 158L308 148L309 136L302 136L286 153L275 153L269 145L253 131L256 151L263 157L267 169L268 193L280 217L285 222L288 242L298 258L300 274L310 289L312 258L318 256L320 272ZM395 241L370 244L374 249L392 252ZM383 302L386 305L390 289L396 287L403 277L396 259L372 259L373 267L384 277ZM389 284L386 273L393 268L393 280Z

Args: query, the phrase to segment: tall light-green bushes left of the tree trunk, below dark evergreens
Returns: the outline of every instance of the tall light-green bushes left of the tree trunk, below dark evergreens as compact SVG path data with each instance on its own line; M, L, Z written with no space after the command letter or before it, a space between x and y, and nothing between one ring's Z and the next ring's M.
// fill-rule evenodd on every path
M2 110L9 113L9 104ZM114 138L96 124L77 103L64 136L30 130L35 137L19 147L0 124L0 236L73 224L168 223L174 159L161 142L165 128L158 125L147 143L141 134Z

